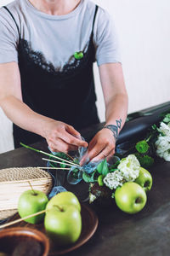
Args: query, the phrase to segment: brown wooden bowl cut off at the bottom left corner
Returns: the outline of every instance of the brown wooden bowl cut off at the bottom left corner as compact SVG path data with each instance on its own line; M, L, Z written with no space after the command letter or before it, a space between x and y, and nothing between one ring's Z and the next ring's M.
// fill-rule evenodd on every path
M48 237L30 228L11 228L0 231L0 253L16 256L47 256Z

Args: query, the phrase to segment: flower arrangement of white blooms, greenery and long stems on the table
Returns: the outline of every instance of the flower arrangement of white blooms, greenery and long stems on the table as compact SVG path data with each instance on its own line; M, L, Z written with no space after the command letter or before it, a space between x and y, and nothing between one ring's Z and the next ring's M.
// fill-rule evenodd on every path
M47 154L35 148L31 149ZM79 148L78 154L74 157L62 152L47 154L49 169L62 169L63 172L67 170L68 183L77 184L82 180L89 183L90 203L98 198L114 198L116 189L121 188L124 183L138 181L141 167L150 168L156 155L170 161L170 113L164 116L159 127L157 125L150 127L147 136L130 149L130 154L127 151L126 154L119 155L120 158L115 157L114 163L105 159L99 163L89 162L85 166L80 166L79 162L85 153L84 150L87 149ZM54 158L60 161L55 161Z

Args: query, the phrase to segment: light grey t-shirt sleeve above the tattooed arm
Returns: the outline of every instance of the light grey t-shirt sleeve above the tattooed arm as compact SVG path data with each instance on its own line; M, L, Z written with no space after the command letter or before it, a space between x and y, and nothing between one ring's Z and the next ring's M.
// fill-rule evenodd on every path
M98 66L122 62L116 27L111 15L99 8L94 24L94 45Z

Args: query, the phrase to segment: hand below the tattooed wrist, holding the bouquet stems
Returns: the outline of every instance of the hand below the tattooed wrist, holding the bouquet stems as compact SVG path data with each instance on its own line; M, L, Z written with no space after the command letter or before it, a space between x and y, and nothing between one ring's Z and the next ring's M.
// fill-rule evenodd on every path
M116 139L109 129L100 130L89 143L87 153L82 157L80 165L89 161L98 162L115 154Z

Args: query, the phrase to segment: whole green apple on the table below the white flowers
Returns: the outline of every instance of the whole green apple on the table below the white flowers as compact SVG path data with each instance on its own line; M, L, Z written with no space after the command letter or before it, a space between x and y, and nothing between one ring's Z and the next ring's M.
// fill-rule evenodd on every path
M121 188L115 192L115 201L117 207L123 212L136 213L141 211L146 203L146 194L144 189L137 183L124 183Z

